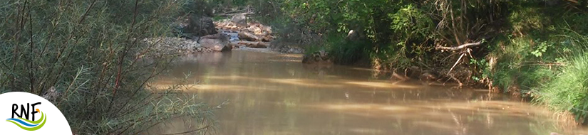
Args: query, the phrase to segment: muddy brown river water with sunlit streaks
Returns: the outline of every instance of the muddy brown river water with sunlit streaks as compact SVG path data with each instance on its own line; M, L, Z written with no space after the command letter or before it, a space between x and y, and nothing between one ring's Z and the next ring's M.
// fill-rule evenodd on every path
M234 50L185 56L155 85L190 73L215 110L213 134L586 134L547 109L487 90L393 82L374 70L304 65L301 55ZM192 130L185 119L148 134ZM564 128L565 129L565 128Z

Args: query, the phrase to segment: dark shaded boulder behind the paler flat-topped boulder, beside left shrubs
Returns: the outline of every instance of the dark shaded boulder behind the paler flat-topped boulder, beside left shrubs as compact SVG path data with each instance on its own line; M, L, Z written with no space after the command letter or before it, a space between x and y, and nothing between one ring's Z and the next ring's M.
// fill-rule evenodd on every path
M192 36L205 36L217 33L215 23L207 16L192 15L188 18L188 26L185 33Z

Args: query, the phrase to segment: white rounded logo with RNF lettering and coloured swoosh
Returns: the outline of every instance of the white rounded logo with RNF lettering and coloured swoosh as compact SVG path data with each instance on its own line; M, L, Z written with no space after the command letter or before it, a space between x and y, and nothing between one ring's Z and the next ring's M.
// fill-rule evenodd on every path
M43 97L27 92L0 95L0 134L71 134L66 117Z

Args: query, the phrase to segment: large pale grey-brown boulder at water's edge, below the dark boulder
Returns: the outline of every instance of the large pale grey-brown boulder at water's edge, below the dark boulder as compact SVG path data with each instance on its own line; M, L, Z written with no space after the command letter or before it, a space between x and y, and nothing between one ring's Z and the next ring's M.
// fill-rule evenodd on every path
M209 48L217 52L232 50L232 45L229 44L229 39L221 33L202 36L198 43L204 48Z

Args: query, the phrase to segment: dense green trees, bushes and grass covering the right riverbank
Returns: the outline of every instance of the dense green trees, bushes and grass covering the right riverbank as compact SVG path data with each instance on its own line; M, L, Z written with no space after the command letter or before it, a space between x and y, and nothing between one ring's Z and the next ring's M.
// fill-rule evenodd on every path
M336 63L411 67L588 118L588 1L225 0ZM349 31L356 34L348 36ZM467 43L476 45L451 49Z

